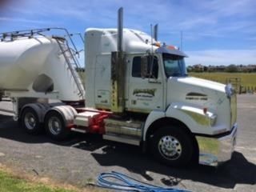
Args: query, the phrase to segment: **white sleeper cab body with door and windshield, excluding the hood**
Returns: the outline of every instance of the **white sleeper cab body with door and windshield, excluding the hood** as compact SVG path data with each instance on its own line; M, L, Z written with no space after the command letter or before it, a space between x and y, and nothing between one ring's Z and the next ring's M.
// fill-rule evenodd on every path
M86 30L86 106L111 110L111 53L117 50L116 38L114 29ZM167 79L187 76L186 54L171 46L151 45L149 35L129 29L124 30L124 47L124 72L118 75L123 76L125 110L165 110Z

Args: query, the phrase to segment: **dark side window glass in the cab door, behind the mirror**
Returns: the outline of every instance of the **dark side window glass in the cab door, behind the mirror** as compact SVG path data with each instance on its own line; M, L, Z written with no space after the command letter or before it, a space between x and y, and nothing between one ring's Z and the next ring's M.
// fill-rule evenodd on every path
M153 66L152 66L153 64ZM150 75L150 70L152 68L152 74ZM147 57L147 77L146 78L158 78L158 58L154 57L152 61L152 56ZM141 74L141 57L134 57L133 68L132 68L132 77L142 78Z

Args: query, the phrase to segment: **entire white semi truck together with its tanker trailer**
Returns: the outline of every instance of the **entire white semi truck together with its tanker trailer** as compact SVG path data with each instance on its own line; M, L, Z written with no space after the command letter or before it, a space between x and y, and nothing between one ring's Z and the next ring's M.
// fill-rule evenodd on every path
M102 134L170 166L230 160L238 129L232 87L188 77L186 54L157 33L123 29L122 9L118 15L118 29L86 30L85 83L69 34L44 34L63 29L0 34L0 91L13 102L14 120L56 140L70 131Z

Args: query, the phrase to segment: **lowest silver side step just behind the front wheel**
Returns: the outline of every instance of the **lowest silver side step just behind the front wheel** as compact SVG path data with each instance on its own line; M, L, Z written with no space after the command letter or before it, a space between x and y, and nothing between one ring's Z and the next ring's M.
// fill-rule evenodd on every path
M113 142L122 142L134 146L139 146L141 141L139 138L128 137L120 134L103 134L103 139Z

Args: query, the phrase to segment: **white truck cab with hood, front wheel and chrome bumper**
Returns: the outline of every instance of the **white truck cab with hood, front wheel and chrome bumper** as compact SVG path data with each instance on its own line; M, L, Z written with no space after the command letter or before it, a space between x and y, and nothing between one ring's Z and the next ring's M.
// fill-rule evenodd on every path
M86 106L121 117L106 119L103 138L143 143L171 166L194 156L210 166L230 159L237 130L232 87L189 77L186 54L138 30L123 30L117 66L117 41L116 29L86 30ZM113 108L115 98L121 108Z

